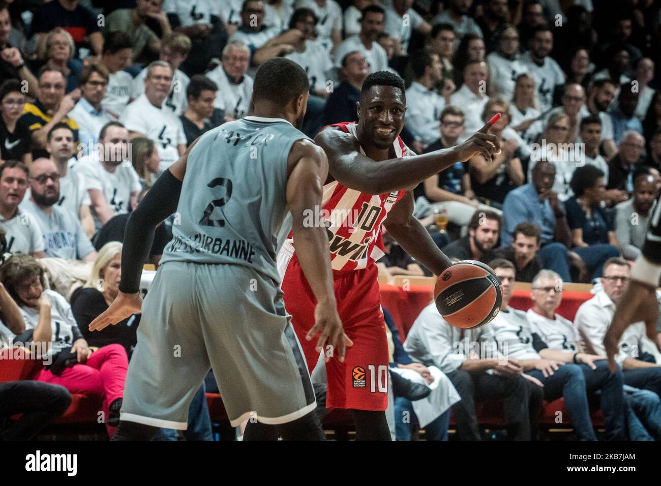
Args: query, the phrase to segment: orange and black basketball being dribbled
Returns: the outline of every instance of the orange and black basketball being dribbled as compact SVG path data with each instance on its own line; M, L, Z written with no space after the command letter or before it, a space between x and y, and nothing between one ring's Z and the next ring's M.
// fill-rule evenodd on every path
M500 311L500 281L488 265L463 260L436 280L434 302L447 323L461 329L488 324Z

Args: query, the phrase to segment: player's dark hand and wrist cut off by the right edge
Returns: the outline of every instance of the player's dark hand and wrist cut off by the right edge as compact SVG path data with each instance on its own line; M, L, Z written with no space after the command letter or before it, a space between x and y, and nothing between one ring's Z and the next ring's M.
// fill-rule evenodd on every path
M629 324L644 321L647 337L656 343L656 319L659 315L658 302L654 288L631 280L629 287L620 298L621 305L615 309L613 321L606 335L603 337L603 346L608 356L608 368L617 372L615 355L619 352L619 340Z

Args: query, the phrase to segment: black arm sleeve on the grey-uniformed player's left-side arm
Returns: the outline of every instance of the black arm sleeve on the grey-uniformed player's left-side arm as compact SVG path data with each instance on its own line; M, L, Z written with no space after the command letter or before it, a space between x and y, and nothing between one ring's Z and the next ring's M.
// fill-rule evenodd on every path
M176 211L182 182L169 170L151 186L126 223L122 247L120 292L136 294L142 267L149 256L156 225Z

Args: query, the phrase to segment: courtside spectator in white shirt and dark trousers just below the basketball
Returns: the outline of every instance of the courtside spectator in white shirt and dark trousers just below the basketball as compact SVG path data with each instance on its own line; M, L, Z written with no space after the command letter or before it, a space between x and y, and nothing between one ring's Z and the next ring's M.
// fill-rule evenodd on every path
M491 338L491 325L458 329L441 317L432 302L422 309L404 341L409 356L424 366L436 366L450 379L461 400L452 406L457 438L481 440L475 401L503 400L509 438L531 440L542 410L543 388L522 375L516 360L489 352L471 352L472 344ZM489 370L493 370L492 373Z

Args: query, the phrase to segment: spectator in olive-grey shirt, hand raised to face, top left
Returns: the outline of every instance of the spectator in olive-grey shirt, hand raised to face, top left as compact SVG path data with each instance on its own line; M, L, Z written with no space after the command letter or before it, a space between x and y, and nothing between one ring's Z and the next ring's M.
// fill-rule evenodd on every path
M149 26L147 20L157 22L161 28L161 38L172 32L167 15L162 10L164 0L136 0L134 9L117 9L106 17L104 34L122 32L133 46L132 61L151 58L161 50L161 40Z

